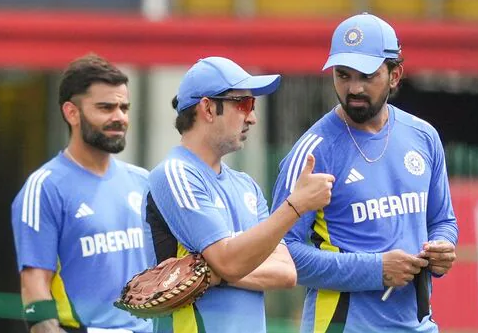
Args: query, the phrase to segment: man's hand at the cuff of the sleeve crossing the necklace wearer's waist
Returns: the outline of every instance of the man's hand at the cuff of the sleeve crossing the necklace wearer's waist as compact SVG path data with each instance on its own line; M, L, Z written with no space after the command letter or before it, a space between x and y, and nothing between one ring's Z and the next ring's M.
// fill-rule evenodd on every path
M386 287L405 286L413 280L422 267L427 267L426 259L405 253L402 250L385 252L383 261L383 285Z

